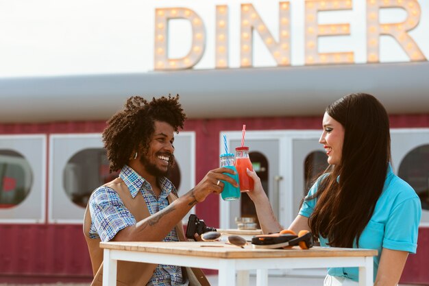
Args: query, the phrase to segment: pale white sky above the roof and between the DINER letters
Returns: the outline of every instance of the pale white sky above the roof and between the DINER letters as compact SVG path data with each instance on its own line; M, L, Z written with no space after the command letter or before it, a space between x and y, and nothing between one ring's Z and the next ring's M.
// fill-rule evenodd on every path
M381 1L381 0L380 0ZM382 0L398 1L398 0ZM404 0L405 1L405 0ZM408 1L408 0L406 0ZM215 0L0 0L0 78L103 73L145 73L154 70L156 8L190 8L204 21L206 49L195 69L215 68L215 8L228 3L230 68L240 66L240 4L252 3L273 36L278 35L279 1ZM304 64L304 1L291 0L291 65ZM350 23L350 36L323 37L319 51L353 51L365 63L366 1L353 10L319 12L319 23ZM421 19L410 32L429 57L429 1L419 0ZM402 9L384 9L382 23L404 21ZM191 25L171 21L169 56L181 58L191 46ZM380 39L381 62L408 61L393 38ZM258 36L254 67L275 67Z

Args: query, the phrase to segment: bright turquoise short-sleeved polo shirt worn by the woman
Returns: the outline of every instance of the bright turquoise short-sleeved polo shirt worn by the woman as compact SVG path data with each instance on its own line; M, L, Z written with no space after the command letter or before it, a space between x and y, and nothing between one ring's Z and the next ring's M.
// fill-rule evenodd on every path
M311 187L307 198L317 192L321 178ZM315 204L317 204L317 198L304 200L299 215L310 217ZM389 165L383 191L359 239L359 248L378 250L378 256L374 257L374 281L382 248L416 252L420 217L421 203L418 195L407 182L393 174ZM328 240L324 237L319 237L319 241L321 246L328 246ZM353 247L357 248L356 239ZM343 276L353 281L358 281L359 278L358 267L328 268L328 274Z

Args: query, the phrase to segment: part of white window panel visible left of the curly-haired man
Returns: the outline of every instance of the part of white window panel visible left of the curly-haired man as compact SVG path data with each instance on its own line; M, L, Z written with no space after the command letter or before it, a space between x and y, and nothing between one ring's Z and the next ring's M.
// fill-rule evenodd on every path
M49 137L49 222L82 224L90 193L110 181L101 134Z

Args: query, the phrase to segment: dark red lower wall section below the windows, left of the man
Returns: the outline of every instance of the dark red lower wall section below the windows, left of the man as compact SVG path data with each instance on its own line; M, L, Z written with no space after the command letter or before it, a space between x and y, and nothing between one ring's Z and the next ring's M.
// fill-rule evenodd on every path
M82 225L0 224L0 283L90 281Z

